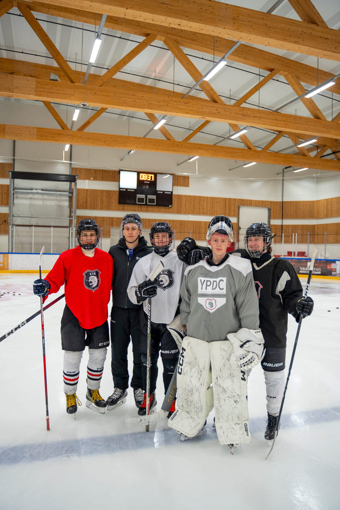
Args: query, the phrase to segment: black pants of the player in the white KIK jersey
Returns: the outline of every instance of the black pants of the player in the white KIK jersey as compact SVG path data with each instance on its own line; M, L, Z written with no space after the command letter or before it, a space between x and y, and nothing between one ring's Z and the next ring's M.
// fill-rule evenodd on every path
M148 316L140 312L140 352L142 360L143 390L147 391L147 343L148 343ZM157 361L159 351L163 364L164 393L171 382L176 370L179 350L173 336L166 327L166 324L151 322L151 344L150 344L150 394L156 390L158 375Z

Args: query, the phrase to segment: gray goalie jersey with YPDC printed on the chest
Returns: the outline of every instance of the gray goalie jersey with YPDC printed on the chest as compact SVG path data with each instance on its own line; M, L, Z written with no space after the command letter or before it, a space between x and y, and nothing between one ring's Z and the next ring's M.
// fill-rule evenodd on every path
M230 255L220 266L209 266L206 259L188 266L181 297L181 323L190 337L226 340L241 327L259 327L252 266L246 259Z

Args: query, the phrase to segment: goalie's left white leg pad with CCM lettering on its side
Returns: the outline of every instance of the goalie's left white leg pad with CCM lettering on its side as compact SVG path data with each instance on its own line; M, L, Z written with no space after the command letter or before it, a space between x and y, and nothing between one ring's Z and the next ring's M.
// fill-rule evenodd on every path
M168 425L192 438L203 427L212 409L209 343L185 337L177 369L177 411Z

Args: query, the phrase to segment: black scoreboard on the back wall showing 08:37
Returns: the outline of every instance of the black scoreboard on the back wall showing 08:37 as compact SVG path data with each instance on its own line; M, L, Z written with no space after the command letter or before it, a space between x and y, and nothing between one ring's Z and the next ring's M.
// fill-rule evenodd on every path
M119 170L118 203L173 207L173 175Z

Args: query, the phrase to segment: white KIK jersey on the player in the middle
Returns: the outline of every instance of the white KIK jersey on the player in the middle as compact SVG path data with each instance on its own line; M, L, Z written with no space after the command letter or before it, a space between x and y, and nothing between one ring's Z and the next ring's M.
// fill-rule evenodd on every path
M176 251L169 251L165 257L160 257L154 251L140 259L133 268L128 285L130 301L137 304L136 287L147 280L159 261L164 269L157 278L157 295L151 298L151 321L157 324L169 324L175 318L180 299L181 282L186 267L177 257ZM148 300L143 301L143 309L148 313Z

